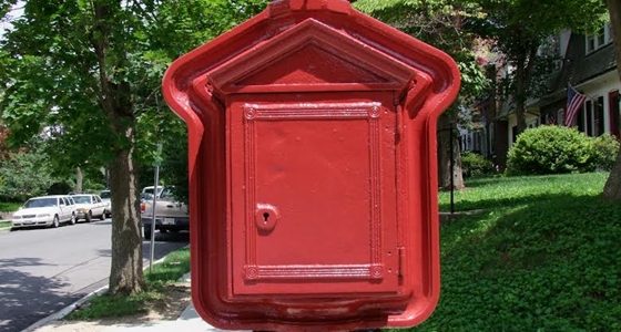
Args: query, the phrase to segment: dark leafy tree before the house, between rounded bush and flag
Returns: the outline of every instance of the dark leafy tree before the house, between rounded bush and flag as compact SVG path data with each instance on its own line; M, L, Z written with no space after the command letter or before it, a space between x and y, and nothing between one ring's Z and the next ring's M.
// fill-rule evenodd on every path
M507 58L511 97L518 120L518 133L526 129L526 102L533 95L533 73L543 41L562 29L593 30L602 22L601 0L472 0L481 17L468 27L486 39L495 40Z

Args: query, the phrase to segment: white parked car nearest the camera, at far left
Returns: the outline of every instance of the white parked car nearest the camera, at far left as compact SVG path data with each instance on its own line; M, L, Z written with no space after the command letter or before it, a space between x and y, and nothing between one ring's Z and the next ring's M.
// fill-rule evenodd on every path
M12 228L50 226L59 227L61 222L75 224L75 210L68 196L41 196L26 201L13 214Z

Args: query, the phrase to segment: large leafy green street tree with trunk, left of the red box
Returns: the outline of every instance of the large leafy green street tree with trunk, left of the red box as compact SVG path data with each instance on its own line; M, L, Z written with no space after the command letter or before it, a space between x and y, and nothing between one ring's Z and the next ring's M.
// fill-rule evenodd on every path
M0 0L6 12L14 0ZM28 0L4 35L0 101L13 142L43 135L67 169L105 166L112 191L110 292L144 287L136 160L177 121L162 105L160 82L172 59L205 42L264 1ZM145 120L153 121L145 121ZM139 132L139 129L143 129ZM175 132L177 133L177 132ZM143 152L143 156L139 154Z

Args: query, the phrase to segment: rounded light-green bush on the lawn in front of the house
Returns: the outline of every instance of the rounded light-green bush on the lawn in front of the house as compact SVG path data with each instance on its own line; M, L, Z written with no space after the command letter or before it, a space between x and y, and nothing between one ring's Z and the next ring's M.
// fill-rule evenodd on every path
M574 128L562 126L527 129L509 149L507 172L536 175L593 170L592 141Z

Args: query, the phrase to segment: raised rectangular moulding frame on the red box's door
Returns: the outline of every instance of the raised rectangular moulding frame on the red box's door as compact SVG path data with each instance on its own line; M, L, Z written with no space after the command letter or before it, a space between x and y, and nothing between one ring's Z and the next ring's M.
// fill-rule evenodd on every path
M244 185L246 209L246 259L244 279L246 281L282 279L369 279L384 278L381 262L381 160L380 160L380 104L379 103L313 103L291 105L245 104L244 121ZM368 264L325 266L259 266L256 262L256 131L257 121L295 120L367 120L369 139L370 179L370 257Z

